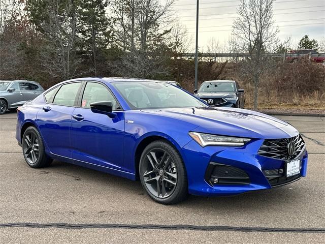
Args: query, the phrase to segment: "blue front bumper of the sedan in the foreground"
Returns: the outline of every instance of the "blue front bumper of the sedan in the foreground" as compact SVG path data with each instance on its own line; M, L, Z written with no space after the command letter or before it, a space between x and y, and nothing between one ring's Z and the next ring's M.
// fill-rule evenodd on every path
M183 147L182 155L188 178L188 191L193 195L226 196L254 190L271 189L294 182L306 176L308 153L300 154L300 174L286 177L285 161L257 154L263 139L253 139L243 147L207 146L201 147L190 141ZM230 167L236 171L235 179L222 179L216 176L217 170L211 165ZM213 171L214 170L214 171ZM244 172L244 173L243 173ZM218 177L217 182L215 178Z

